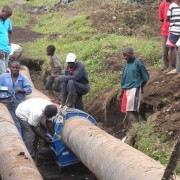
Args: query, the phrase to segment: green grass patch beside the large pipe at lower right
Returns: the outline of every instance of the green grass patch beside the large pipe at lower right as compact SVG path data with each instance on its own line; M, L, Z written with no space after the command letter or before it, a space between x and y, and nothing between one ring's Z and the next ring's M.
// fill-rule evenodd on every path
M167 165L172 153L172 145L164 142L165 135L155 131L155 124L151 121L137 123L134 126L136 136L135 148L144 152L163 165ZM176 168L180 174L180 164Z

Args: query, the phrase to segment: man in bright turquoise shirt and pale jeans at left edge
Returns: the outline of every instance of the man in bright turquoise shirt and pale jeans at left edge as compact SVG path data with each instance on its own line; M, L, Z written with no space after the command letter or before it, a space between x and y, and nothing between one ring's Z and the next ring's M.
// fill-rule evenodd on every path
M9 54L11 52L12 25L9 17L12 9L4 6L0 12L0 75L8 68Z

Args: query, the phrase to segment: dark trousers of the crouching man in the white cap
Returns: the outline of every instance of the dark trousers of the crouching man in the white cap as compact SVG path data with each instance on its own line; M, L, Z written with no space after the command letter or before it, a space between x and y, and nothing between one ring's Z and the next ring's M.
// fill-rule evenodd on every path
M82 95L87 94L89 90L90 90L90 87L88 84L82 84L74 80L61 82L60 101L62 104L65 104L68 94L77 94L75 108L83 110L84 105L83 105Z

